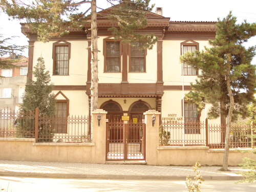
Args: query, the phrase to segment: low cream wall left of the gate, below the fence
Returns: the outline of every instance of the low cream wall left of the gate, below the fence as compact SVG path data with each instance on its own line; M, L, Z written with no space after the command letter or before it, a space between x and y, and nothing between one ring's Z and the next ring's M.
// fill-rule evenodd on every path
M0 159L104 163L94 143L35 143L34 139L0 139ZM96 156L97 155L97 156Z

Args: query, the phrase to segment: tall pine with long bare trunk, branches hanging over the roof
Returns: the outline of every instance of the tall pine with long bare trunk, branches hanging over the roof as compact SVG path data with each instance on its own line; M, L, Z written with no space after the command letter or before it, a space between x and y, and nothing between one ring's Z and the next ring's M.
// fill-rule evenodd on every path
M107 13L113 21L110 28L116 39L124 42L140 42L141 48L152 49L157 38L151 34L138 34L135 31L147 25L145 15L154 6L148 7L150 0L105 0L113 5ZM91 7L83 10L84 4ZM25 19L27 26L38 35L38 40L47 41L51 37L68 34L71 28L81 29L91 23L92 81L91 81L91 112L98 107L98 45L97 45L97 13L96 0L35 0L30 5L20 1L1 0L0 8L14 19ZM82 11L81 11L82 10ZM87 15L91 10L91 14Z

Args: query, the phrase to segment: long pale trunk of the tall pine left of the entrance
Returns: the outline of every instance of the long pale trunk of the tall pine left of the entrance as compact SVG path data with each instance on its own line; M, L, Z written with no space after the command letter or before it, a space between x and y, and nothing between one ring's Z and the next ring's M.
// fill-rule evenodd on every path
M96 0L91 2L92 8L92 83L91 83L91 113L98 108L98 35L97 35L97 12Z

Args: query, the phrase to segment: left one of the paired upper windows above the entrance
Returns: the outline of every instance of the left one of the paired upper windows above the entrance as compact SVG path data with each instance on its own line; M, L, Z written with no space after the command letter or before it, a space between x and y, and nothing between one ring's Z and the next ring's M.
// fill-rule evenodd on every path
M120 68L120 41L106 40L104 56L105 56L105 72L119 73Z

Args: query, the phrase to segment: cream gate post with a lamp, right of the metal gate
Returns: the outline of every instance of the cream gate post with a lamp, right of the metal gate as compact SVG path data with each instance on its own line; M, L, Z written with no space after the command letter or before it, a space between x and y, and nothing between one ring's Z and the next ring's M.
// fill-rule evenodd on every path
M146 123L146 163L149 165L157 165L157 147L159 145L160 123L159 118L161 113L156 110L148 110L143 114L145 115ZM152 121L154 116L155 122L153 123Z

